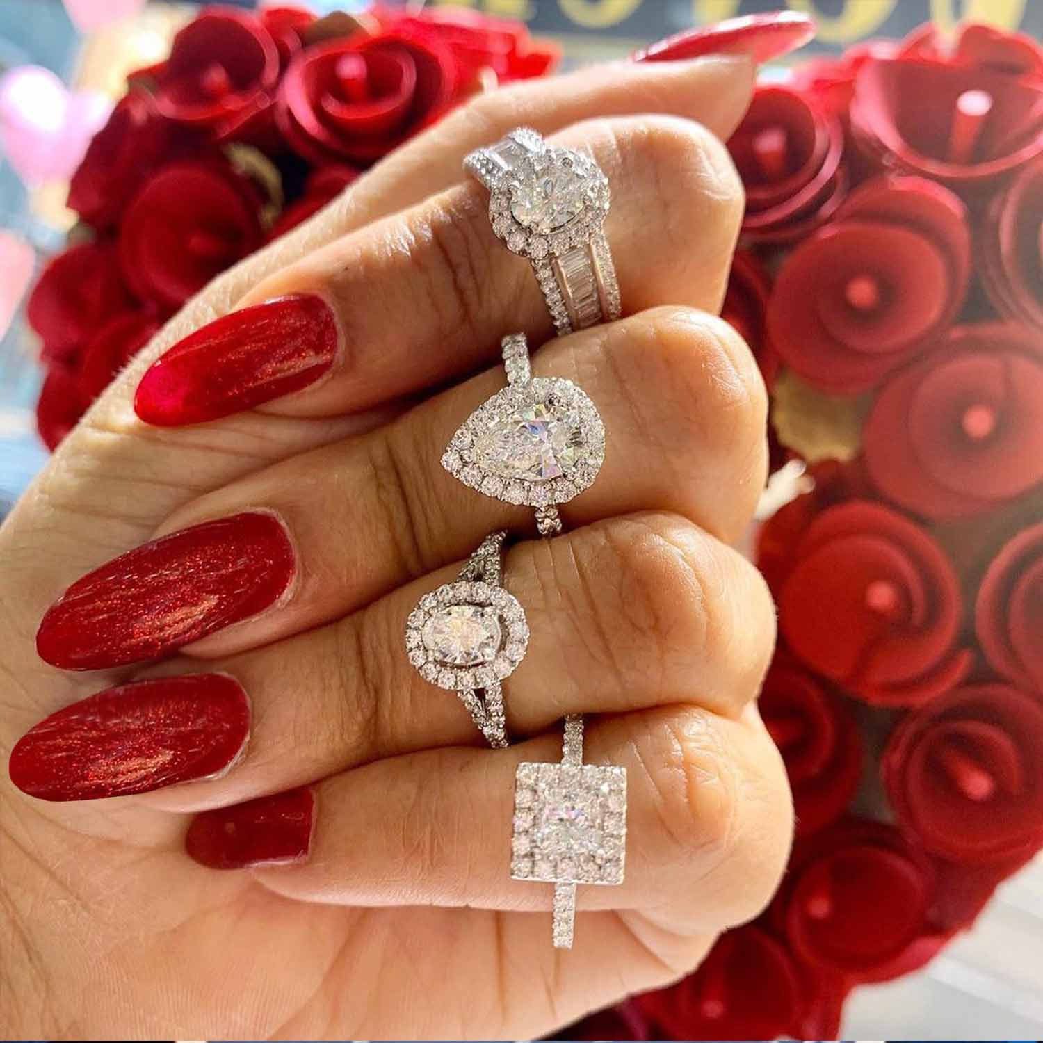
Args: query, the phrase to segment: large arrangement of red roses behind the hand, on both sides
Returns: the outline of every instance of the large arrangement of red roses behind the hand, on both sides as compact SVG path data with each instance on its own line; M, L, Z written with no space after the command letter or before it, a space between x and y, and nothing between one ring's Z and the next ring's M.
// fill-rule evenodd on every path
M553 46L466 11L213 7L140 70L29 301L51 447L165 319ZM1043 49L924 27L758 88L724 307L773 391L761 708L797 840L770 907L579 1039L835 1038L1043 847ZM778 479L775 480L776 483Z

